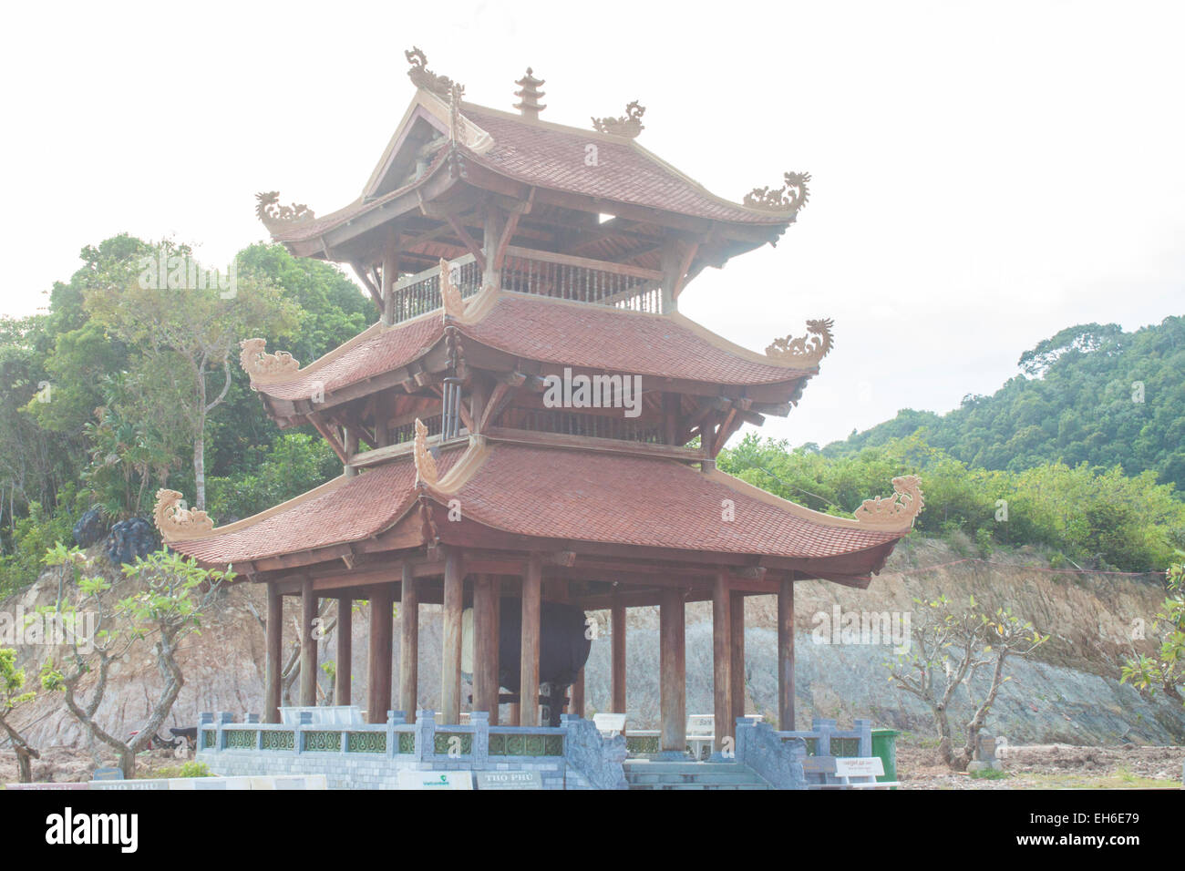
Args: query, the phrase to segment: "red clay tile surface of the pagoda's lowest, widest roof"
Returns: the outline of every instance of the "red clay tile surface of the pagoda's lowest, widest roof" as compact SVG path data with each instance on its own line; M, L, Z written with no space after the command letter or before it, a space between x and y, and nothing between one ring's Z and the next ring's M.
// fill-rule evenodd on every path
M815 514L674 460L515 444L470 450L485 451L480 465L451 492L430 494L442 504L459 499L465 517L514 534L805 559L870 551L904 534ZM441 475L463 454L442 451ZM412 507L415 478L403 457L258 521L171 546L206 563L243 563L357 542ZM725 499L735 506L731 521L722 519ZM880 568L873 563L869 570Z

